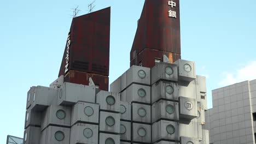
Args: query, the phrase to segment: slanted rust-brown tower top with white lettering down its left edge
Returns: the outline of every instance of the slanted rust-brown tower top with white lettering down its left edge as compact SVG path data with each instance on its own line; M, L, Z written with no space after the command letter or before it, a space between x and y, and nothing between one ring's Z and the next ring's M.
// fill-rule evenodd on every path
M59 72L109 75L110 7L74 17Z

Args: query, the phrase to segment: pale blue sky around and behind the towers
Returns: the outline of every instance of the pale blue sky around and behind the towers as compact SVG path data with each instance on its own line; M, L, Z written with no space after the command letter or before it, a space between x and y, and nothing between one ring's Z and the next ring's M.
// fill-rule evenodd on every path
M1 130L23 137L26 96L31 86L57 79L72 8L88 13L91 1L1 0ZM113 82L130 65L130 49L144 1L96 0L94 10L112 7L110 74ZM181 1L182 59L196 62L197 75L207 77L211 91L256 79L256 1Z

